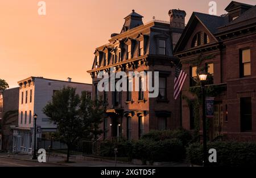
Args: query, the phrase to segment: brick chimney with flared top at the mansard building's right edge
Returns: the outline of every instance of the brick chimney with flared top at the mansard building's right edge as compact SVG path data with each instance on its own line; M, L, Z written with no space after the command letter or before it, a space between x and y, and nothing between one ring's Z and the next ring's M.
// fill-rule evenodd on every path
M172 35L172 48L174 49L177 41L185 28L185 16L186 12L183 10L172 9L169 11L170 16L170 30Z

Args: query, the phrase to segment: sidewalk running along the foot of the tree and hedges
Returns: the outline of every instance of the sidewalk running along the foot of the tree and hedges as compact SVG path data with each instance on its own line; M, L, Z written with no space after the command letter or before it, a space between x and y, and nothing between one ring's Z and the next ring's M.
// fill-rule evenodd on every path
M27 154L7 154L7 153L0 153L0 158L7 158L7 159L14 159L14 160L23 160L27 162L35 162L38 163L38 160L32 160L32 155ZM113 160L105 160L105 159L98 159L98 158L88 158L83 156L71 156L70 162L65 163L65 155L58 154L58 155L51 155L48 158L47 155L47 164L52 164L53 166L71 166L71 167L114 167L115 162ZM43 163L42 163L43 164ZM121 163L117 162L118 167L145 167L144 165L136 165L131 163ZM160 166L160 165L159 165ZM162 164L163 167L187 167L187 163L166 163ZM146 166L147 167L147 166Z

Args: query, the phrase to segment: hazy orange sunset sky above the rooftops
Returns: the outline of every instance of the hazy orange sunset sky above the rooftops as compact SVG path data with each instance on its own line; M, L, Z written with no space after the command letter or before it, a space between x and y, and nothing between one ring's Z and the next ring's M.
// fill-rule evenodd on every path
M255 5L255 0L238 0ZM46 16L38 15L39 0L0 0L0 78L10 87L30 76L91 83L94 49L119 33L131 10L143 22L168 20L170 9L208 13L208 0L44 0ZM230 0L216 0L217 15Z

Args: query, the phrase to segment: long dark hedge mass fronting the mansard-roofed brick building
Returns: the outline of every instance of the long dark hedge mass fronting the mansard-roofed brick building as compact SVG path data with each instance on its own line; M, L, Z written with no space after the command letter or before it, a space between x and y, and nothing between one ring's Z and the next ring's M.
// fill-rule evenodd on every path
M185 145L191 138L191 134L184 129L153 130L138 141L101 142L100 155L113 157L114 148L117 147L117 156L141 159L144 163L176 162L185 158Z

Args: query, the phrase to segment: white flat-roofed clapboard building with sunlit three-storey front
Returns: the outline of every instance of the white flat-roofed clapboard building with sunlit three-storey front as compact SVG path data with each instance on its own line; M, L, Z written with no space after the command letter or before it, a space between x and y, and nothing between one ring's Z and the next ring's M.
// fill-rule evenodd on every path
M16 126L11 126L13 130L13 151L32 153L34 147L34 114L38 115L36 120L36 141L49 139L56 132L56 125L50 122L44 115L43 108L55 91L63 87L76 88L77 94L82 91L92 92L92 85L86 83L46 79L43 77L30 77L18 82L19 90L19 122ZM37 143L36 143L37 144Z

